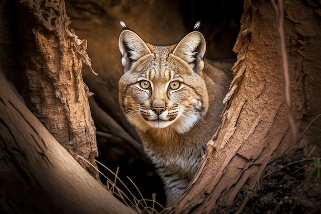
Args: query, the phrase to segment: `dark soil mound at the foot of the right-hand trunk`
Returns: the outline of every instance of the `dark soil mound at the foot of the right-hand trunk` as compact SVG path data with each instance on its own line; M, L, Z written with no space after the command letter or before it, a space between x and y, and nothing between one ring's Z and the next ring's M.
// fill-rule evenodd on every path
M321 213L321 177L310 176L316 167L312 159L302 149L274 159L255 189L240 191L232 207L219 206L215 213L235 213L245 196L249 201L242 213Z

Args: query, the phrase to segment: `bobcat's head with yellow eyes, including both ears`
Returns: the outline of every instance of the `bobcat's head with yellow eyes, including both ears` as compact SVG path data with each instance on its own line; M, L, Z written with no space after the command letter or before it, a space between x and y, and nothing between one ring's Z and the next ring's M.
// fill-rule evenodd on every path
M137 129L168 127L185 133L206 114L206 43L200 32L193 31L172 46L153 46L125 29L118 45L124 68L119 104Z

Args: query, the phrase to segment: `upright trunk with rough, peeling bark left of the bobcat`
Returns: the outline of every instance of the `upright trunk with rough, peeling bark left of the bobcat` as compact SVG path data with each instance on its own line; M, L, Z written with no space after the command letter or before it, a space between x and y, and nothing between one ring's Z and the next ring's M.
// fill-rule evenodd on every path
M18 32L13 37L19 43L22 95L27 106L57 141L98 178L98 173L77 156L95 165L98 155L96 128L82 77L83 61L90 65L86 41L79 40L68 28L63 0L5 2L17 16L17 25L12 25L11 31Z

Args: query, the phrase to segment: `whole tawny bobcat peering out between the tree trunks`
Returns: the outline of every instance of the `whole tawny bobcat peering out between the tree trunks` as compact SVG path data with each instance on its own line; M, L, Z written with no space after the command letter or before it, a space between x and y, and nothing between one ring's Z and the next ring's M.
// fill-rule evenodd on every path
M118 45L119 105L163 180L166 206L175 206L220 123L233 63L203 59L199 31L175 45L153 46L125 28Z

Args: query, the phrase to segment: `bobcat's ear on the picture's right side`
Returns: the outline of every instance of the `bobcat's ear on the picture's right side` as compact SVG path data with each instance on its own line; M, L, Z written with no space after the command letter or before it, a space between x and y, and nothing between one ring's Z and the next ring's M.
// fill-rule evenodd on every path
M175 47L173 54L185 60L198 74L203 73L203 57L206 42L202 33L193 31L187 34Z

